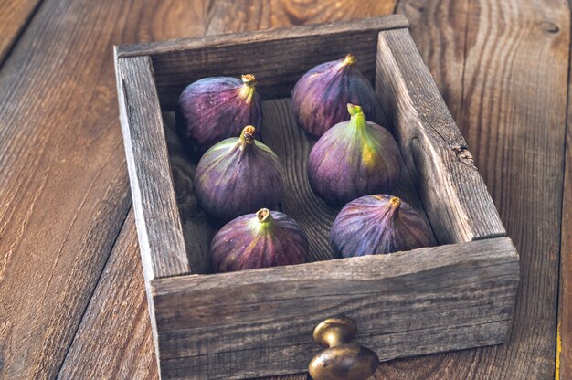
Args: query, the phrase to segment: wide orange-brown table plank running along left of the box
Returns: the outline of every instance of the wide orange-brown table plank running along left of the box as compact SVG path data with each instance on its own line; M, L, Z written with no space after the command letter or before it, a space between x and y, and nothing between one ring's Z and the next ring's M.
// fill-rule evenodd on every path
M58 374L131 204L111 47L204 30L178 4L46 0L0 71L1 378Z

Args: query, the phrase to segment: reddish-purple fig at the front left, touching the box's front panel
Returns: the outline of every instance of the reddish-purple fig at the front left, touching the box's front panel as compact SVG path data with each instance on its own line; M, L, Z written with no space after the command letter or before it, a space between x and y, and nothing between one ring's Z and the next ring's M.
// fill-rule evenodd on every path
M217 272L302 264L308 249L302 227L290 216L267 208L238 216L217 232L210 245Z

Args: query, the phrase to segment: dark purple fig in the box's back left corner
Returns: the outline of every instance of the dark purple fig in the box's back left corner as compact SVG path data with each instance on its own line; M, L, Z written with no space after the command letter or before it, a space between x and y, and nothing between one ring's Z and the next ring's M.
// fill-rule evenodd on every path
M176 130L192 155L238 137L245 125L260 125L262 107L255 86L256 79L247 74L242 79L200 79L183 90L176 105Z

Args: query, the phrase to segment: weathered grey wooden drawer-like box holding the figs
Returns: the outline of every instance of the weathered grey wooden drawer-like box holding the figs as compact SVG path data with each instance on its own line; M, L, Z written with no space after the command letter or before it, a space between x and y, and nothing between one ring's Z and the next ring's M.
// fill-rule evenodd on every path
M381 101L379 121L404 158L396 194L427 217L434 247L333 259L337 210L312 194L315 142L291 117L291 89L316 64L358 58ZM403 16L116 48L122 131L163 378L234 379L303 372L312 330L344 315L381 360L503 343L518 255L466 142L419 57ZM307 264L209 274L215 232L192 193L195 164L173 131L185 85L256 75L261 140L281 157L281 208L308 233Z

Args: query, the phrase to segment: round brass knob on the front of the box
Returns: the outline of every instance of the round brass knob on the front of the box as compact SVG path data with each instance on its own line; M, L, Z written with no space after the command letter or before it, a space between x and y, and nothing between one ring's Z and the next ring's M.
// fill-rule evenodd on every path
M347 318L329 318L313 330L315 343L328 347L313 357L308 370L313 380L365 380L376 373L376 353L357 344L355 322Z

